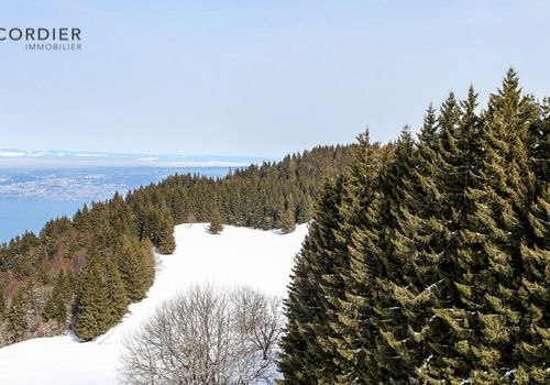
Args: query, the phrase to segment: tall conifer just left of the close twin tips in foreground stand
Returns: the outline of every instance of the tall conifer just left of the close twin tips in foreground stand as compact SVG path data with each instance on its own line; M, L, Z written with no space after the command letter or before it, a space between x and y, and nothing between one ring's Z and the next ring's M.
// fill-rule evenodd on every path
M408 351L408 355L404 355L409 376L427 384L437 384L427 373L431 371L431 363L440 358L437 346L443 345L447 339L433 314L441 300L448 301L442 295L446 276L439 268L447 237L438 186L441 150L438 120L430 105L411 163L398 182L402 198L398 209L393 211L395 228L389 237L395 264L400 264L397 271L402 282L394 280L393 287L393 298L402 308L402 324L407 330L400 344Z

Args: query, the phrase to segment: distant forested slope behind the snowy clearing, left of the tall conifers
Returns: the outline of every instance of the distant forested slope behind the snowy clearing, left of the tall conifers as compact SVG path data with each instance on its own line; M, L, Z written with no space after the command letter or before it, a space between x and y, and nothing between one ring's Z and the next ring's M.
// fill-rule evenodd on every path
M175 175L1 244L0 345L67 329L85 340L103 333L145 296L153 248L174 251L175 224L292 231L311 218L323 177L349 163L350 146L320 146L218 179Z

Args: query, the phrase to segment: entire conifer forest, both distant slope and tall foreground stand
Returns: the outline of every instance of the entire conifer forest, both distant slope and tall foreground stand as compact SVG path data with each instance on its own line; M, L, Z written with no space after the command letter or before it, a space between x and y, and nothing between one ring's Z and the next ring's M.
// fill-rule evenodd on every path
M108 331L176 224L308 223L280 385L550 384L550 99L512 68L479 99L450 92L391 143L365 130L221 178L174 175L1 244L0 346Z

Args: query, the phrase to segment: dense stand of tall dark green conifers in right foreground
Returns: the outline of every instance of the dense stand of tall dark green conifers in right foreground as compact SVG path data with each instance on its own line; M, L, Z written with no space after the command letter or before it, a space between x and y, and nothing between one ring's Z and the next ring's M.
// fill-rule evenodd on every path
M297 256L283 384L550 383L550 100L514 70L359 136Z

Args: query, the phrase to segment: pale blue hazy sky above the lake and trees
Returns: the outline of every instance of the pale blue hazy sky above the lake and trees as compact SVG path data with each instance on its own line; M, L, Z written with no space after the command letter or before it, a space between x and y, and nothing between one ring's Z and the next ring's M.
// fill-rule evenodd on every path
M0 0L14 26L82 50L0 42L0 148L279 157L417 131L509 66L550 94L549 1Z

